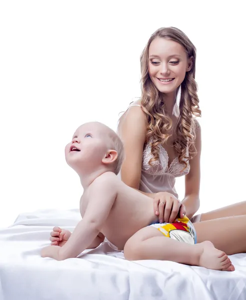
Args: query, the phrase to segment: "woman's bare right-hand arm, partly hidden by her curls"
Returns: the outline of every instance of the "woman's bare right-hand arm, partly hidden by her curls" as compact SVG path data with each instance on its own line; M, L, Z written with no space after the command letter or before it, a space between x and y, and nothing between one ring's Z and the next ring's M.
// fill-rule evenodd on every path
M196 155L189 161L190 170L185 176L185 196L182 203L186 208L186 215L190 218L200 206L200 153L201 153L201 130L198 121L196 121L195 138Z

